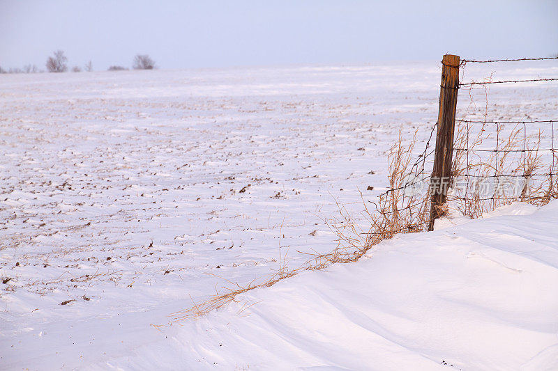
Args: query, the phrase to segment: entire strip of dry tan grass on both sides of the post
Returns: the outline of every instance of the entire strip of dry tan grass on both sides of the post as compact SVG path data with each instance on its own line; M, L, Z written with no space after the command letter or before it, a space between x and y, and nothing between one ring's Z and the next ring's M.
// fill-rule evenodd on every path
M474 150L489 144L488 142L494 136L494 132L490 133L486 125L488 124L485 123L478 127L474 135L472 135L474 130L471 127L458 125L454 146L455 148L468 148L469 151L455 151L452 169L454 179L459 176L465 176L470 180L474 177L488 177L490 179L494 175L518 175L522 179L531 181L525 183L518 195L495 192L488 199L474 193L469 188L464 195L456 194L451 189L448 194L448 204L445 206L447 208L445 214L451 214L451 211L477 218L483 212L494 210L496 207L506 205L514 200L544 204L548 203L551 198L558 198L556 177L552 178L552 175L547 175L543 180L532 181L534 174L540 173L543 169L546 174L554 173L554 163L558 163L558 161L553 160L549 169L544 168L545 159L543 159L543 154L537 151L541 146L541 132L534 136L527 136L523 132L524 127L513 127L511 129L504 126L497 127L495 143L492 144L495 145L495 148L504 152L482 152L485 154L483 155ZM415 189L416 191L412 193L408 192L409 187L412 187L414 182L422 183L423 180L428 180L428 177L424 179L425 159L420 159L422 166L417 166L418 161L413 162L415 144L415 136L409 143L405 144L400 134L398 142L389 150L389 187L391 190L380 195L376 203L367 203L361 194L364 210L357 217L354 217L345 205L337 204L339 216L326 221L338 244L333 251L326 254L309 254L311 255L310 260L293 270L288 269L287 262L283 258L280 260L278 271L261 283L252 281L248 285L242 286L225 280L231 285L230 287L223 287L225 292L217 292L213 297L201 303L193 301L193 306L190 308L173 313L170 323L206 315L228 303L237 302L236 296L239 294L259 287L270 287L285 278L296 276L301 271L324 269L335 263L356 262L372 246L399 233L428 230L430 213L428 187ZM529 151L521 152L523 149ZM513 152L518 150L520 152ZM487 153L488 155L486 155ZM518 156L518 154L520 155ZM425 155L425 152L423 155ZM551 155L556 156L554 151ZM413 177L409 177L409 175L413 175ZM373 205L373 208L369 205ZM245 304L239 312L246 308Z

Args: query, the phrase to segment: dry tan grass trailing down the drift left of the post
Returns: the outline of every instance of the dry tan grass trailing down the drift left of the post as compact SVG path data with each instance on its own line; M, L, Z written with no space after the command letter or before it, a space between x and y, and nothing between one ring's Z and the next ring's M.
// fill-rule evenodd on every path
M374 209L370 210L362 197L366 227L363 226L361 218L355 218L345 208L345 205L337 203L339 216L333 220L326 221L330 230L337 237L338 246L326 254L308 254L310 260L297 269L289 269L286 257L280 259L278 271L264 279L261 283L252 281L248 285L229 283L229 287L222 287L224 292L216 292L213 297L200 303L192 301L190 308L181 310L170 315L170 324L181 322L186 319L201 317L213 310L222 308L228 303L237 302L236 296L259 287L270 287L285 278L296 276L302 271L319 270L329 267L335 263L356 262L372 246L384 239L389 239L398 233L420 232L428 227L428 195L406 195L405 186L409 180L407 172L412 168L413 150L416 143L415 138L408 144L402 139L389 150L389 186L395 191L388 191L381 196L377 203L372 203ZM253 305L253 304L250 304ZM243 306L241 310L245 310Z

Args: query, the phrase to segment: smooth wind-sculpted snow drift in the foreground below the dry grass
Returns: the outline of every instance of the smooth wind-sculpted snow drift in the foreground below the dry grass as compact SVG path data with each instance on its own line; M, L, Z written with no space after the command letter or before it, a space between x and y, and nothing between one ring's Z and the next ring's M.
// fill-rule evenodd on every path
M455 223L455 221L453 222ZM558 201L382 242L176 329L122 368L556 370Z

